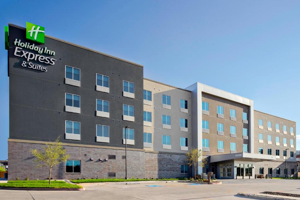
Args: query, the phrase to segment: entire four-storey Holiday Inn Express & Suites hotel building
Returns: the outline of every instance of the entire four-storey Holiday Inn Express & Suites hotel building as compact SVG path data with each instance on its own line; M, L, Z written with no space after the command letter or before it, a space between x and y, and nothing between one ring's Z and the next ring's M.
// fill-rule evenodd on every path
M295 122L255 111L253 100L149 80L142 65L50 36L32 42L12 24L7 41L9 180L46 178L29 151L58 136L70 158L52 169L57 179L124 178L125 134L130 178L190 177L192 146L208 157L198 174L283 176L284 155L288 175L297 169Z

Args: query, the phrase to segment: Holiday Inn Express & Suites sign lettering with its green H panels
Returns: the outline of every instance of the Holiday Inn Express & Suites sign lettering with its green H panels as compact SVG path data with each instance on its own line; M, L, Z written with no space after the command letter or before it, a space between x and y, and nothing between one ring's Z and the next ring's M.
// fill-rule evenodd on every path
M5 36L6 33L7 28L5 27ZM47 72L48 68L41 64L54 65L56 59L49 57L55 55L54 51L47 49L47 47L40 46L45 43L45 28L43 26L26 22L26 39L39 44L29 43L28 41L22 41L21 39L16 38L13 42L15 45L14 55L25 59L21 63L22 67ZM5 46L8 46L8 38L6 37ZM41 64L37 64L36 62Z

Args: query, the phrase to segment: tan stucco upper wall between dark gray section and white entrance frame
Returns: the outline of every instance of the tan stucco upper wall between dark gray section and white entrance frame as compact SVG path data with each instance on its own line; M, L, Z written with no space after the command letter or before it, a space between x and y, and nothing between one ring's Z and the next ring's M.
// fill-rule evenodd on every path
M191 145L191 92L144 79L144 89L152 91L152 106L144 104L144 111L152 112L152 126L144 126L144 132L152 133L152 148L147 151L186 153L180 150L180 137ZM162 95L171 96L171 110L162 108ZM180 99L187 100L188 113L180 112ZM162 115L171 116L171 129L162 128ZM180 131L180 118L187 119L188 132ZM171 136L171 149L162 148L162 135Z

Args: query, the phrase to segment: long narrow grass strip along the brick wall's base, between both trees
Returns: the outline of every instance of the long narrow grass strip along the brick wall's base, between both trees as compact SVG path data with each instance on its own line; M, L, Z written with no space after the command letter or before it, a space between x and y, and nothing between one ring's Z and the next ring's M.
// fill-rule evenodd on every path
M127 182L127 181L178 181L184 178L164 178L164 179L119 179L119 178L96 178L70 180L73 183L103 183L103 182Z

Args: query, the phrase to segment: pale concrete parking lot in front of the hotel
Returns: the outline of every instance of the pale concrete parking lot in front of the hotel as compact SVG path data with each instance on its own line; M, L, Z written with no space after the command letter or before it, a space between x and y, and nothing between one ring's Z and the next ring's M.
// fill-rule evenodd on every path
M0 190L0 199L246 199L237 193L264 191L300 192L299 180L244 179L220 180L221 185L158 183L139 184L88 183L85 191L18 191Z

